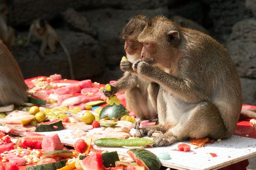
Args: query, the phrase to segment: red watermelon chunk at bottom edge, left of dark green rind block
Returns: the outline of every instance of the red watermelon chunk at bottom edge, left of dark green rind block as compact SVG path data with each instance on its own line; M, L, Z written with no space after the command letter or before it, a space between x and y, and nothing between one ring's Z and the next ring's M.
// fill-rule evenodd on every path
M103 162L100 152L95 152L81 161L82 169L86 170L103 170Z

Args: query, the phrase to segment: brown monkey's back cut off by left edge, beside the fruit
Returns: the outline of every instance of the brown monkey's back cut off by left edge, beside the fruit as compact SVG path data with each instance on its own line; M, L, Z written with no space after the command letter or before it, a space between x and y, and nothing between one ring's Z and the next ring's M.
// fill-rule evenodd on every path
M0 40L0 106L23 105L27 101L28 86L24 82L16 60Z

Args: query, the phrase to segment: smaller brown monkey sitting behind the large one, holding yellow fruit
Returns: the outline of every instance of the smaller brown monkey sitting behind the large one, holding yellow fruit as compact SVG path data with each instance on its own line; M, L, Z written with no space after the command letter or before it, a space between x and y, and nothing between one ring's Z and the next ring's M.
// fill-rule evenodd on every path
M104 91L106 96L116 92L125 91L127 107L141 119L156 121L156 99L159 86L156 83L141 78L132 69L132 64L140 59L142 43L138 42L138 35L144 29L147 18L137 15L131 18L123 31L125 40L124 50L127 60L120 63L120 68L125 71L124 76L112 86L112 91ZM135 128L139 127L138 122Z

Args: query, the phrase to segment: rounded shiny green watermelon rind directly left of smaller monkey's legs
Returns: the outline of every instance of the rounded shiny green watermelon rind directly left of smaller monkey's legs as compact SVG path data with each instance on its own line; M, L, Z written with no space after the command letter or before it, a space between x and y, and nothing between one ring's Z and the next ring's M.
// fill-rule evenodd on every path
M102 119L106 116L108 116L109 119L118 118L127 113L129 113L129 111L121 104L106 105L106 107L100 111L99 118Z

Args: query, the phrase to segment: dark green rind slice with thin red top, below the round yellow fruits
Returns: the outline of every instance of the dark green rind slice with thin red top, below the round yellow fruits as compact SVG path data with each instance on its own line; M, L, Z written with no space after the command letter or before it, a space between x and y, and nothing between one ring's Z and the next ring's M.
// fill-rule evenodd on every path
M57 128L54 128L56 126ZM61 120L53 122L51 124L40 124L35 128L35 132L52 132L64 129Z

